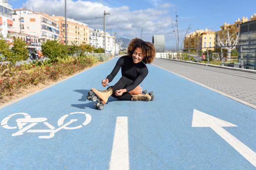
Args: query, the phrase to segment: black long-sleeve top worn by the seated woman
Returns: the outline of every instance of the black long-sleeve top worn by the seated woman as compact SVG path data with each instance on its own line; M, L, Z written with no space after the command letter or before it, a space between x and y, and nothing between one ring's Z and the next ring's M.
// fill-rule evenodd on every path
M109 83L114 79L120 68L122 71L122 76L125 76L133 81L131 85L126 87L127 92L140 85L149 73L147 66L143 62L135 64L133 63L132 57L125 55L118 59L114 69L107 76Z

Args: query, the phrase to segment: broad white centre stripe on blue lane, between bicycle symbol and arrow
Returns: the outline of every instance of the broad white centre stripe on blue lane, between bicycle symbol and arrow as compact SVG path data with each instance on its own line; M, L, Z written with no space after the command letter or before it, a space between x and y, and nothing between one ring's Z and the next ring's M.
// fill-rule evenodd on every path
M129 170L128 118L117 117L109 170Z

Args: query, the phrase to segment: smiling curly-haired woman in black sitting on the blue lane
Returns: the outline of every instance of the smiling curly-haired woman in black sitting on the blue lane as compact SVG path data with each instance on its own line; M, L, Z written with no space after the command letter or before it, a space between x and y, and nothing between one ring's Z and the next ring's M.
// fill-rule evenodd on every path
M145 42L139 38L132 39L128 45L128 55L119 58L112 72L106 79L102 80L102 85L106 87L121 68L122 77L119 81L104 91L95 88L91 88L91 90L100 98L103 104L107 103L110 96L123 101L152 100L153 96L142 94L140 84L149 72L146 64L153 62L155 53L152 43Z

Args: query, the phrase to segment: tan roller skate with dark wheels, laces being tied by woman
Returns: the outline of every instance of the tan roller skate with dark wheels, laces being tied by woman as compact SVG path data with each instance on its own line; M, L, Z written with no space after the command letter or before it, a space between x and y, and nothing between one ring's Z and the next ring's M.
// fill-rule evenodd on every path
M93 104L95 109L103 110L104 105L107 103L108 98L112 95L112 88L108 88L107 90L97 90L95 88L91 88L88 92L86 99L88 101L96 102Z

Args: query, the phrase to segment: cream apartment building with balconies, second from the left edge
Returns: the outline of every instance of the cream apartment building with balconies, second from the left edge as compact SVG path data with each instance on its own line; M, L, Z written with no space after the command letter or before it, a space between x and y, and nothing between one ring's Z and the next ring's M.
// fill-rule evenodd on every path
M33 13L27 9L13 10L13 27L16 33L38 37L40 41L59 39L59 25L44 13Z

